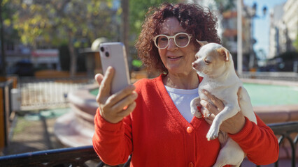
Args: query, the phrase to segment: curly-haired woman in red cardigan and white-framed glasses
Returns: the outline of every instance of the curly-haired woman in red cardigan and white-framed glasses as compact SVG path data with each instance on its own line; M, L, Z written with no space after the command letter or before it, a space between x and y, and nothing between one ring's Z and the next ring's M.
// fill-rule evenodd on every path
M143 64L162 74L141 79L134 86L110 94L113 68L100 84L94 118L93 145L106 164L123 164L132 154L131 166L212 166L220 143L207 141L214 116L224 107L213 95L204 101L210 111L205 119L190 114L190 101L198 96L201 77L192 70L198 40L220 43L216 19L210 11L194 4L164 3L151 9L136 42ZM271 164L278 158L274 133L257 117L257 125L238 113L222 123L248 159L255 164Z

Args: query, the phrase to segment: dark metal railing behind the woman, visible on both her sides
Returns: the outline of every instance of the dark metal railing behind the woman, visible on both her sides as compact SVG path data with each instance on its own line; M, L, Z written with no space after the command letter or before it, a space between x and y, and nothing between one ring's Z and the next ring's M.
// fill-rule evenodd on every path
M269 127L274 131L274 134L281 136L278 139L278 143L283 143L284 139L287 138L290 141L292 149L291 163L292 167L295 167L295 150L297 148L297 132L298 122L283 122L270 124ZM292 139L290 134L296 134L295 138ZM0 167L2 166L92 166L88 162L90 160L95 161L93 166L104 166L104 162L99 160L96 152L92 145L79 147L79 148L62 148L56 150L45 150L41 152L29 152L24 154L14 154L0 157ZM124 166L129 166L127 161ZM122 166L122 165L121 165ZM275 163L278 166L278 161Z

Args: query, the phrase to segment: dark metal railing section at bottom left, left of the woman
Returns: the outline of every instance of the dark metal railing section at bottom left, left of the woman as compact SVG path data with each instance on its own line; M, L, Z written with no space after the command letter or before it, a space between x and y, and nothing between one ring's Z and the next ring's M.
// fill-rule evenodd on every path
M0 167L4 166L107 166L100 161L92 145L78 148L61 148L55 150L45 150L38 152L29 152L23 154L13 154L0 157ZM119 165L128 167L126 164Z

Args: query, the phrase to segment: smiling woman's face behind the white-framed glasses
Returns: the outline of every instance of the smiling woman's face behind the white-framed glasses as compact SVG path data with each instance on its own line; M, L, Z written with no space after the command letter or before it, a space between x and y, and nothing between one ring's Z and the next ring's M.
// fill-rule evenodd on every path
M176 17L169 17L164 20L161 26L160 33L168 36L176 35L177 33L186 33ZM165 49L158 49L162 63L170 74L190 74L192 72L192 62L195 61L197 53L193 42L190 42L187 47L177 47L174 40L169 40L169 45Z

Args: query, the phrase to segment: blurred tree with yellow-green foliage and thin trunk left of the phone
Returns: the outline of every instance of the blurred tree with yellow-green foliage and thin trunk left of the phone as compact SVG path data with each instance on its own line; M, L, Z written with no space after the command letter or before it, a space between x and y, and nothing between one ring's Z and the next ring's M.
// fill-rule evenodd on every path
M71 55L70 73L76 72L76 47L88 47L99 37L117 35L111 0L11 0L16 12L13 24L22 42L36 45L42 38L57 47L67 43ZM36 46L34 46L36 47Z

